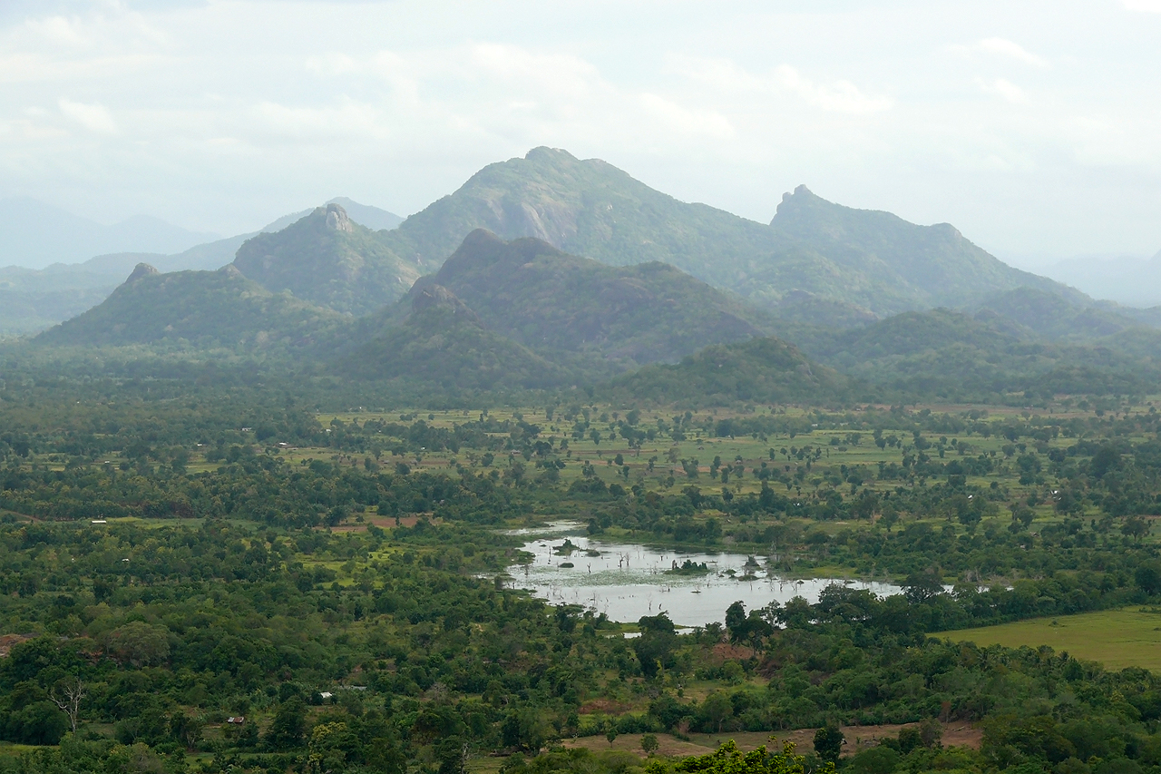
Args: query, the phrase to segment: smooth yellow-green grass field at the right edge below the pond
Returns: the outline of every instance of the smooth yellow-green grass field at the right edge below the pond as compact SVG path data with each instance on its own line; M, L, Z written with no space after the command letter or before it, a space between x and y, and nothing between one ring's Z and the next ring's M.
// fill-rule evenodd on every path
M1007 647L1048 645L1110 669L1135 666L1161 672L1161 610L1125 608L1058 618L1033 618L997 626L932 635L953 642Z

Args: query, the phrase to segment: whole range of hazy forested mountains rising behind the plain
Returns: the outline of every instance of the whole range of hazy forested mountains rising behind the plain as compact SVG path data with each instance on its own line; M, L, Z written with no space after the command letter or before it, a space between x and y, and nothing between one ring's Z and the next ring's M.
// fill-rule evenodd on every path
M802 186L762 224L534 149L395 229L330 203L244 239L222 271L138 266L37 343L279 353L445 392L613 380L611 394L783 401L1140 390L1161 360L1156 316L1011 268L946 224Z

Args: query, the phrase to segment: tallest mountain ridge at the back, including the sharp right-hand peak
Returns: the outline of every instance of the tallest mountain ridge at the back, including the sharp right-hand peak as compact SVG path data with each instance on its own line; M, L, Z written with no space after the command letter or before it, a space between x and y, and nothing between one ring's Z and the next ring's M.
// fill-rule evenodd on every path
M1007 266L946 224L841 207L801 186L771 224L757 223L548 148L484 167L384 238L434 268L477 228L611 265L666 263L794 317L961 306L1024 285L1080 295ZM803 294L815 303L805 304Z

